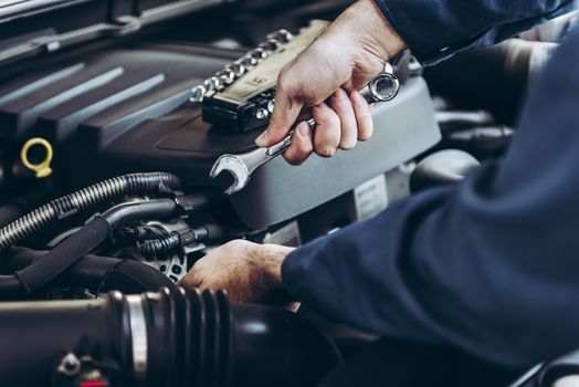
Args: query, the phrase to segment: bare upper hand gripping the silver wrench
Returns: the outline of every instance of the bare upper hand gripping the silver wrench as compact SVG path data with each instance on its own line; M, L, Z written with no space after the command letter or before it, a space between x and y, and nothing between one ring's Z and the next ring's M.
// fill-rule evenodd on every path
M312 151L331 157L338 148L351 149L372 135L370 107L358 93L385 62L404 49L373 0L347 9L277 80L270 127L255 143L271 146L296 124L304 107L313 107L315 134L306 122L295 126L284 158L302 164Z

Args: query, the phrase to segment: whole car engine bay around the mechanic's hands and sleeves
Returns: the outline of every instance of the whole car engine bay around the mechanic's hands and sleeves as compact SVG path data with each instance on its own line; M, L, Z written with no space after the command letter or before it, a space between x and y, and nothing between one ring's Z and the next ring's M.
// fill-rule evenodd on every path
M211 167L255 149L273 100L231 118L210 96L348 4L0 4L0 385L315 386L347 360L329 323L176 283L227 241L297 247L501 157L551 48L514 39L427 70L404 53L371 140L272 159L225 195Z

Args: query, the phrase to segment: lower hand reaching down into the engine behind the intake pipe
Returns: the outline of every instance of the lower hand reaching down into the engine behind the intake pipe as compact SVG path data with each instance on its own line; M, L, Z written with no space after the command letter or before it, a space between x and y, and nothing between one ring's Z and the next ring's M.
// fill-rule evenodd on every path
M183 287L224 289L232 301L261 304L288 303L282 285L282 263L294 249L229 242L200 259L179 282Z

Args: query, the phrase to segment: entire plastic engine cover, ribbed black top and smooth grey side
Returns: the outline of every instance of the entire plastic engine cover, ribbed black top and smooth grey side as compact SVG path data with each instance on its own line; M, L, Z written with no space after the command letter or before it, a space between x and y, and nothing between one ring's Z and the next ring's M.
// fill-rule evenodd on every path
M242 52L192 44L143 44L106 50L0 85L0 137L42 136L55 146L55 175L84 185L128 171L166 170L192 187L210 180L224 153L255 147L259 133L231 133L201 119L189 91ZM421 77L373 108L375 136L331 159L302 167L282 158L259 169L230 197L241 220L263 228L315 208L407 161L440 139ZM227 175L227 174L225 174Z

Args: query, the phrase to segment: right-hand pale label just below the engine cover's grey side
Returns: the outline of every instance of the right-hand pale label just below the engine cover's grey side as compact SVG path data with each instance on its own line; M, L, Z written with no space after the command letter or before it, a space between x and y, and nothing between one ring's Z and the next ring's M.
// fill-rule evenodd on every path
M377 216L388 207L388 190L385 175L379 175L354 189L354 202L358 220Z

